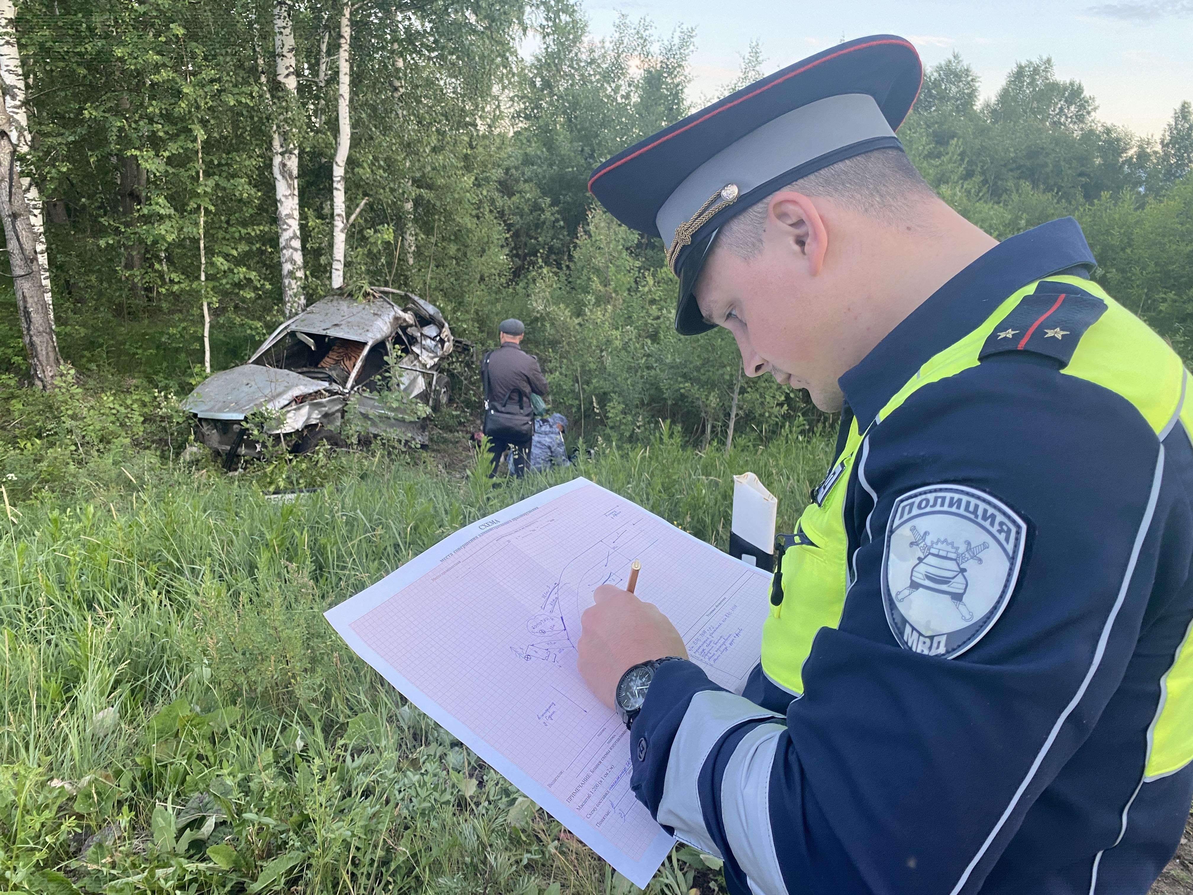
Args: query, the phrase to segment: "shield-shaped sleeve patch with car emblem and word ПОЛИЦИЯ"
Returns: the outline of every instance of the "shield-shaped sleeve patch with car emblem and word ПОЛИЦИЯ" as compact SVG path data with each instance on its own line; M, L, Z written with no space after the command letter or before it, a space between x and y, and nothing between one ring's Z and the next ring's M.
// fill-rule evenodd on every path
M883 556L883 606L895 638L952 659L1002 615L1019 578L1026 526L973 488L932 484L895 502Z

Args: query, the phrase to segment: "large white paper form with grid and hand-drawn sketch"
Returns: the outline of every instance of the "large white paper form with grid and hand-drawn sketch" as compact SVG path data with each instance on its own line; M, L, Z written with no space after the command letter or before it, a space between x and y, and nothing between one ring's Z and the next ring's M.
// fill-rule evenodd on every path
M575 653L593 590L624 586L635 558L637 595L740 692L769 575L586 479L460 529L326 615L406 698L645 888L673 840L630 790L629 732Z

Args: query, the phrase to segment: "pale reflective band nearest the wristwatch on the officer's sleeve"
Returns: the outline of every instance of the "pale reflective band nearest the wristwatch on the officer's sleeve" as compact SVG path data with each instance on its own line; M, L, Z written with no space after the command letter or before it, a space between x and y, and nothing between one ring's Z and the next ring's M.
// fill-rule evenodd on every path
M777 717L781 716L723 690L696 693L672 742L656 820L665 827L672 827L678 839L723 857L704 826L698 790L700 770L721 737L735 727L747 721Z

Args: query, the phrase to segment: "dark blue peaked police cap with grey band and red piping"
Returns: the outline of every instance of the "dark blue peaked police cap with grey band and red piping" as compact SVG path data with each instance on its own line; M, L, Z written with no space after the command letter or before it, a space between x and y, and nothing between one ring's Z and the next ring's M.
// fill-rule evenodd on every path
M598 167L588 190L618 221L667 247L679 277L675 329L712 328L692 292L717 230L815 171L902 146L895 129L920 92L902 37L837 44L743 87Z

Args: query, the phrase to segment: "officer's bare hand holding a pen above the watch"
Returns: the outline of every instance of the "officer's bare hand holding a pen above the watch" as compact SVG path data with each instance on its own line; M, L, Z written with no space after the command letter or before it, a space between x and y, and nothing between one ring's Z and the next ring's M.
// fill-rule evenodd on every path
M614 709L617 681L630 666L668 655L687 659L687 649L654 604L613 585L598 587L593 599L595 605L580 616L576 667L596 698Z

